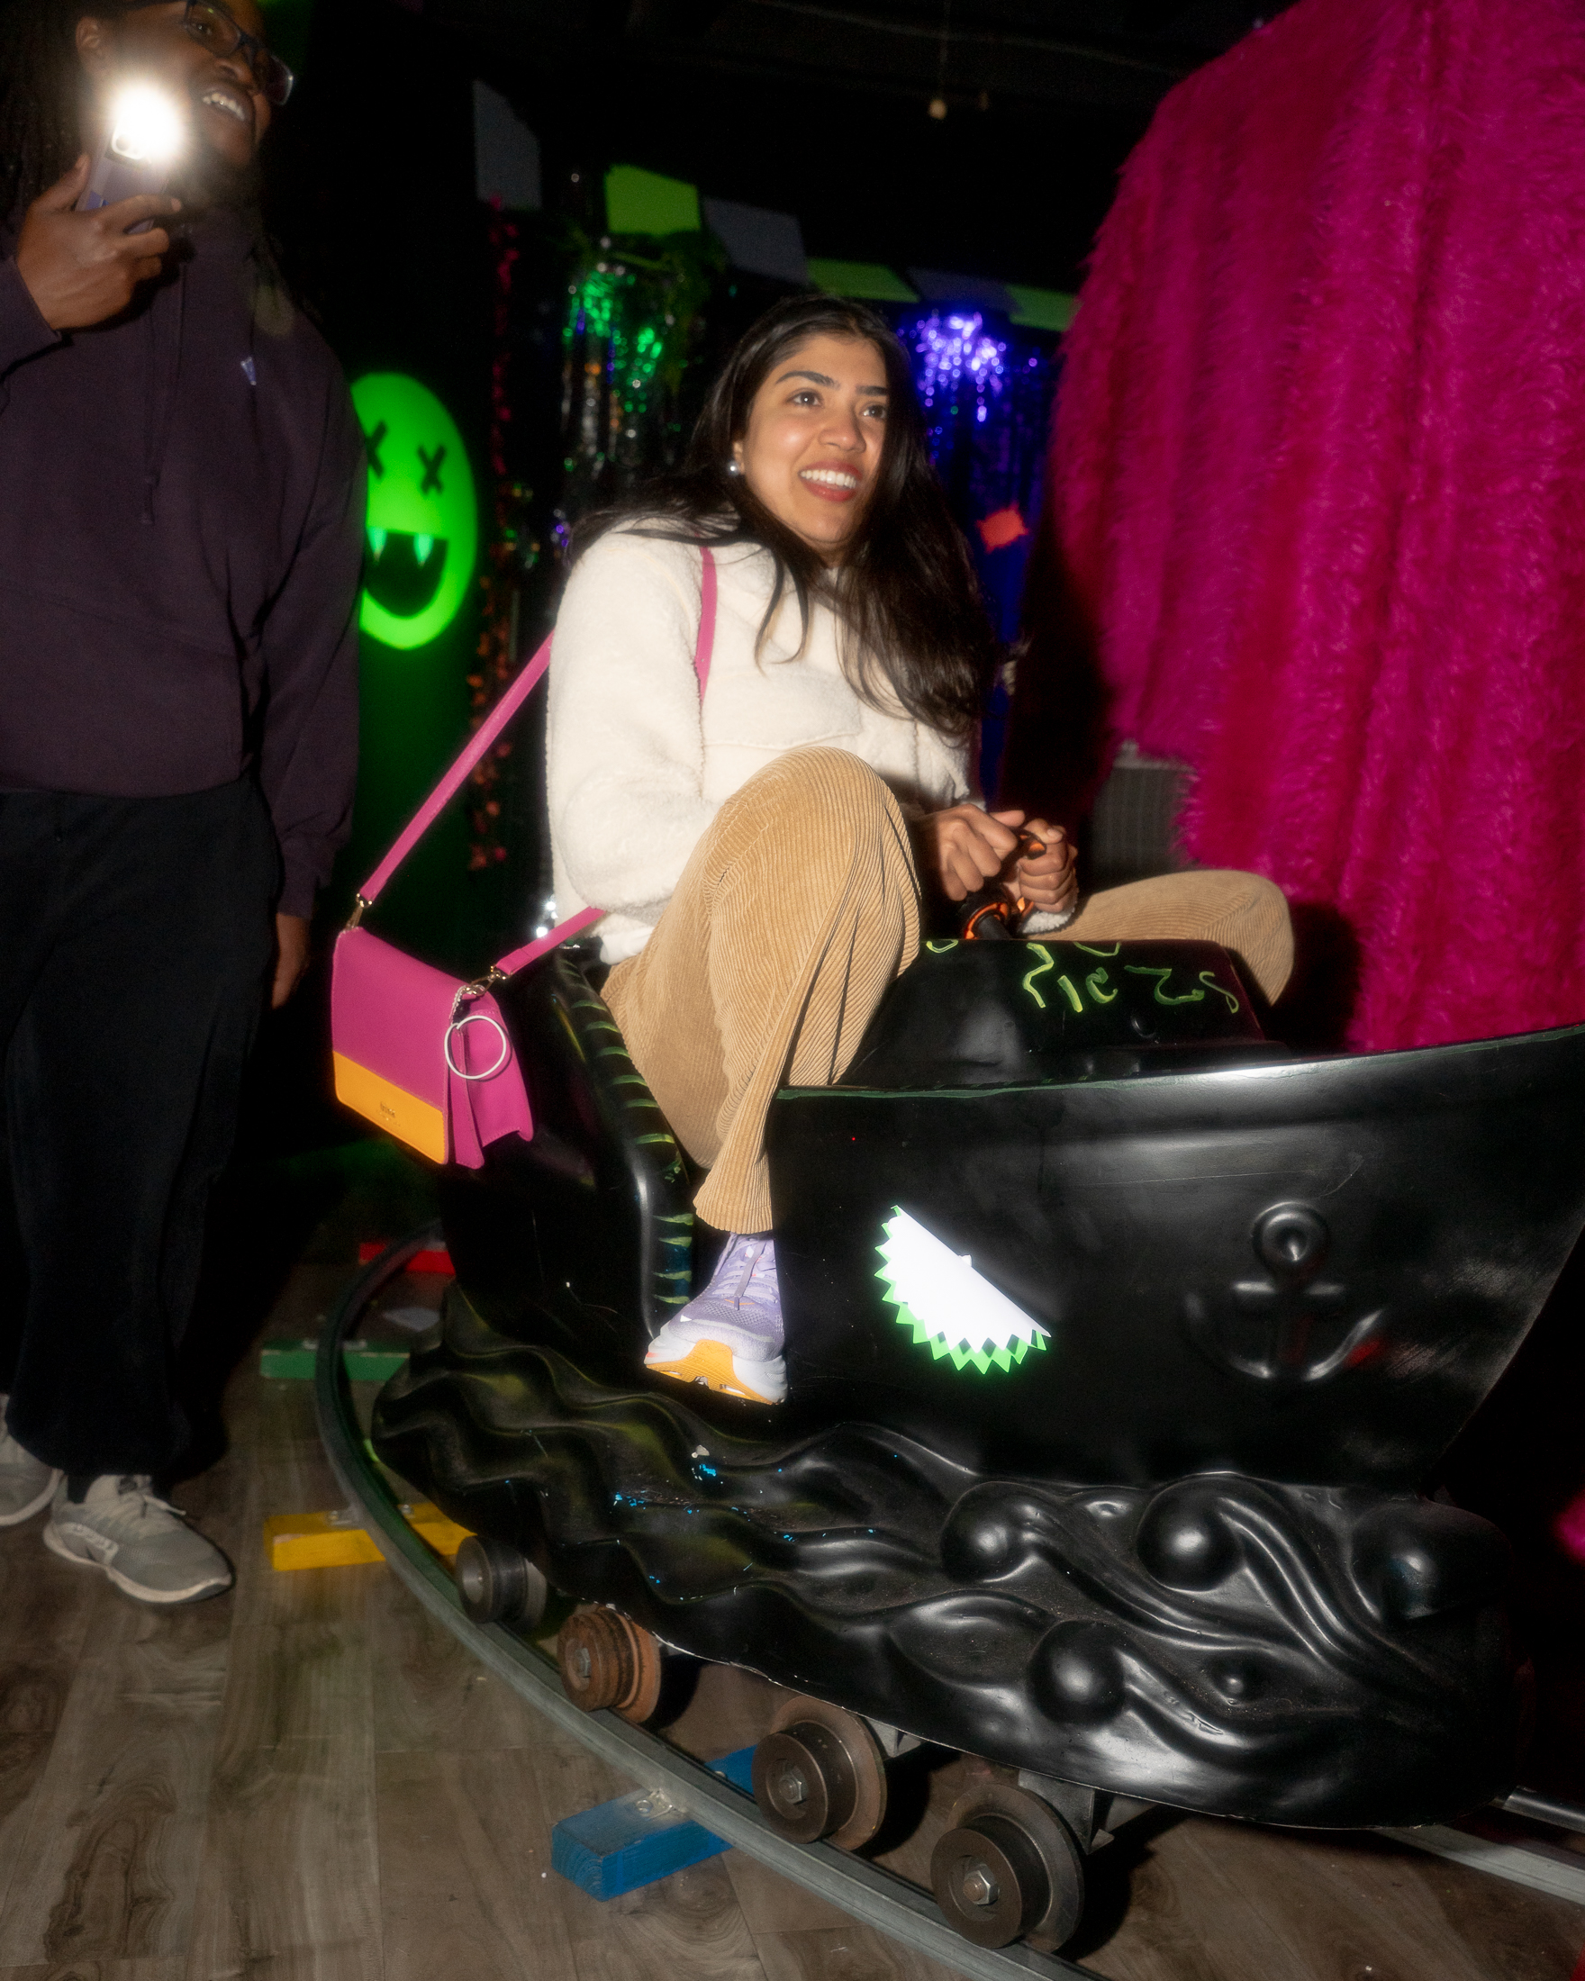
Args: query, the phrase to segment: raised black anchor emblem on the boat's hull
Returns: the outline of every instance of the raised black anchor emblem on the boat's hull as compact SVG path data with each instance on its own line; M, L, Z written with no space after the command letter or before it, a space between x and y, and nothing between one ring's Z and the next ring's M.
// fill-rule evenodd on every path
M1323 1280L1331 1230L1312 1204L1272 1204L1250 1230L1264 1280L1234 1280L1216 1307L1183 1302L1195 1347L1232 1375L1286 1389L1323 1383L1375 1331L1385 1309L1349 1319L1349 1290Z

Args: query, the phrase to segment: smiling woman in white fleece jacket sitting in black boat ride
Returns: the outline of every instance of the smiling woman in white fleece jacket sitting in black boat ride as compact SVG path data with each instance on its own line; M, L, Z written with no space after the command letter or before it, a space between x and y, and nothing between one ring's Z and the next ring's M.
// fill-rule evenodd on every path
M767 311L684 473L581 547L551 668L557 909L606 909L604 998L709 1169L699 1218L731 1234L650 1343L664 1375L783 1401L765 1111L840 1078L917 953L921 886L961 901L1001 876L1040 927L1078 903L1060 830L971 802L993 664L907 359L856 303ZM1286 903L1250 874L1117 887L1072 931L1226 943L1266 996L1292 959Z

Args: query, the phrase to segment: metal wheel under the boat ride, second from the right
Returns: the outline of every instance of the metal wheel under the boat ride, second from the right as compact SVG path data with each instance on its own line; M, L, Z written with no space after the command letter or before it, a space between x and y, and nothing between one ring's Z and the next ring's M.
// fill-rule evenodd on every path
M791 1842L828 1836L858 1850L886 1817L886 1755L856 1714L824 1700L787 1700L755 1747L755 1801Z

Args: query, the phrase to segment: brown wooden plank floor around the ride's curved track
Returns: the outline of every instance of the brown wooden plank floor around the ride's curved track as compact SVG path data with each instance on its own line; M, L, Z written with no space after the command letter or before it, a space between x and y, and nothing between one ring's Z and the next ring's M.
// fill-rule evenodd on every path
M313 1333L378 1228L343 1206L267 1331ZM309 1385L256 1369L180 1494L230 1597L143 1611L0 1535L0 1981L945 1981L737 1852L608 1904L555 1876L551 1826L630 1783L382 1567L271 1573L265 1517L337 1496ZM676 1735L725 1753L771 1698L705 1672ZM899 1783L909 1876L957 1769ZM1361 1836L1157 1813L1092 1864L1070 1953L1110 1981L1569 1981L1585 1945L1585 1908Z

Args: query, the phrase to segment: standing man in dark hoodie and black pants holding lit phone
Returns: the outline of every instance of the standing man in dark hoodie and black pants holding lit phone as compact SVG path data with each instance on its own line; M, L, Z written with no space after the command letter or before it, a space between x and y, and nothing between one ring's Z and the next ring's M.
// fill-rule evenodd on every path
M79 212L129 81L172 194ZM232 1581L155 1494L172 1363L355 773L361 436L256 212L289 87L254 0L0 12L0 1525L147 1603Z

